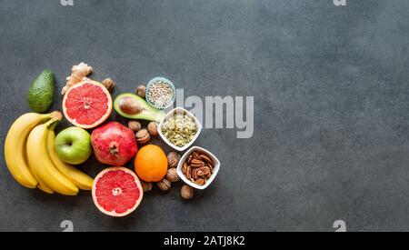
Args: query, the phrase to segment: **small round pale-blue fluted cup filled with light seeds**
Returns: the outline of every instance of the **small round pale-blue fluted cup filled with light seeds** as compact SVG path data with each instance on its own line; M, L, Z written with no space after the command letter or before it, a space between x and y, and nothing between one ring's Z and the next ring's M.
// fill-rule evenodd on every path
M175 85L165 77L155 77L146 85L145 99L157 109L166 109L174 104Z

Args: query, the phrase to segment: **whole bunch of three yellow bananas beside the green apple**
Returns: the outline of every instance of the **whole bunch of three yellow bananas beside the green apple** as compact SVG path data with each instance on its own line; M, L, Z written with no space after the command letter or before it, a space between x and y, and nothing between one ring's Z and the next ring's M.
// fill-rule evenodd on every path
M91 190L94 180L56 155L54 129L61 119L57 111L28 113L11 126L5 138L5 163L20 185L61 195Z

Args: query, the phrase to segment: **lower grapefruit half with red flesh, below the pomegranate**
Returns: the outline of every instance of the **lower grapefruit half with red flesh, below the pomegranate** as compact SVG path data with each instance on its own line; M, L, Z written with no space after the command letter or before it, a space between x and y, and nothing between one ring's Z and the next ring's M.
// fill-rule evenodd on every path
M96 207L115 217L134 212L144 197L139 178L122 166L106 168L97 175L92 194Z

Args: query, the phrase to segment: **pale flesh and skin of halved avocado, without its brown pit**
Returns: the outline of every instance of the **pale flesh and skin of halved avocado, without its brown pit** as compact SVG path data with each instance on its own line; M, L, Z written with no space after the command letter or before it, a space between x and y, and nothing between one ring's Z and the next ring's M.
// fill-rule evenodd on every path
M133 98L142 107L142 111L135 115L125 113L120 107L121 100L124 97ZM143 98L132 93L124 93L116 96L114 101L114 108L119 115L122 115L129 119L147 120L159 123L165 117L165 112L163 110L157 109L152 105L149 105Z

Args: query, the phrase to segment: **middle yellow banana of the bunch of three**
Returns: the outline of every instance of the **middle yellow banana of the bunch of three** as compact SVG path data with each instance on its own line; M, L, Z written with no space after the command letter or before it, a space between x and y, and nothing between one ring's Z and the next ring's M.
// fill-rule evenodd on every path
M47 150L48 127L61 120L60 117L53 117L43 125L37 125L28 135L27 157L33 167L35 175L40 178L45 185L62 195L77 195L78 188L64 175L62 175L51 161Z

